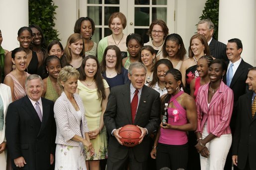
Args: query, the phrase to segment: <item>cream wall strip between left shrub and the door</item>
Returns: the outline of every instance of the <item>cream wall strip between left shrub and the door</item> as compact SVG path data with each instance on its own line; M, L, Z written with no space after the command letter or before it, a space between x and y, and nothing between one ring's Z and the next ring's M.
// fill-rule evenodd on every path
M77 0L53 0L56 8L55 29L59 31L61 44L65 48L68 37L74 33L78 18Z

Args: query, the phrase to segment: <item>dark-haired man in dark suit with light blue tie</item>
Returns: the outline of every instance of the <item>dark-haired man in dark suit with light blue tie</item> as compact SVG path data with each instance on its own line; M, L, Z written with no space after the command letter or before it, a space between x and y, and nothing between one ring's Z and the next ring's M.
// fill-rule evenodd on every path
M229 58L229 61L227 61L228 71L227 74L224 75L223 81L233 90L234 93L234 108L230 121L230 128L233 136L236 128L238 99L248 91L248 87L246 85L246 79L249 71L248 69L253 67L243 60L241 57L242 51L243 44L241 40L238 38L228 40L226 51L227 57ZM231 170L232 168L231 150L232 149L230 149L230 152L227 156L227 161L224 168L225 170ZM234 170L237 170L237 168L234 167Z

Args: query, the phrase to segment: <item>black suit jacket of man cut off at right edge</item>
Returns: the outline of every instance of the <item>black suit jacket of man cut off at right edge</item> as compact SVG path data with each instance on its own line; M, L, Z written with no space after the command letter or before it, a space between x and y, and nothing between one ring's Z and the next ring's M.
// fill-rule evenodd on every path
M233 155L238 155L238 168L243 170L249 158L251 170L256 170L256 116L252 118L253 92L238 100L238 117L233 139Z

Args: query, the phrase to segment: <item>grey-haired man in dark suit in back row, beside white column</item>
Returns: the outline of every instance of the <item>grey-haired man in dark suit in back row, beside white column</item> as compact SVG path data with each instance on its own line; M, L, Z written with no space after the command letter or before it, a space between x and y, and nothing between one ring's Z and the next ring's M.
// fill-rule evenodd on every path
M213 38L214 24L210 19L202 19L197 23L197 33L205 36L211 56L228 60L226 55L226 45Z

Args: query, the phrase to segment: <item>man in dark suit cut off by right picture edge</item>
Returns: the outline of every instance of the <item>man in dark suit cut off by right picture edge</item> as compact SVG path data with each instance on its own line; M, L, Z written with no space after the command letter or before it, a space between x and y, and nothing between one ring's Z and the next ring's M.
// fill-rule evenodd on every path
M256 170L256 67L250 68L246 83L251 92L238 100L232 160L239 170Z

